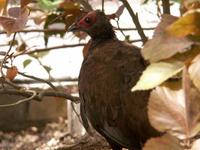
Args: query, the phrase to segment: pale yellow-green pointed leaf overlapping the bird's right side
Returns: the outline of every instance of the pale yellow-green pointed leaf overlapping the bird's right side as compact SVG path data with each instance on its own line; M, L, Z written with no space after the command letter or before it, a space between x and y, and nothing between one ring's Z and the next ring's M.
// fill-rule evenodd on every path
M184 63L174 59L150 64L132 91L152 89L183 69Z

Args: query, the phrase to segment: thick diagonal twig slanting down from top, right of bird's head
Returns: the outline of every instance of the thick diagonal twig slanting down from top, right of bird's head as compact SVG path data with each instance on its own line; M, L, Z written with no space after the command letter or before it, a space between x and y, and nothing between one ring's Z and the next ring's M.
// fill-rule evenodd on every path
M142 39L143 44L145 44L148 39L147 39L146 35L144 34L144 31L140 25L138 15L133 12L133 10L127 0L121 0L121 1L123 2L124 6L127 8L128 12L137 28L138 34L140 35L140 37Z

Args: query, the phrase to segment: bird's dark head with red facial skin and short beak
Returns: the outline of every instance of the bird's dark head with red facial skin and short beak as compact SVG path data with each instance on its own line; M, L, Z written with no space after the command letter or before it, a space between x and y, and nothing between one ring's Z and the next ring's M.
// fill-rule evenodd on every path
M100 10L83 15L68 28L68 31L83 31L93 39L115 37L110 19Z

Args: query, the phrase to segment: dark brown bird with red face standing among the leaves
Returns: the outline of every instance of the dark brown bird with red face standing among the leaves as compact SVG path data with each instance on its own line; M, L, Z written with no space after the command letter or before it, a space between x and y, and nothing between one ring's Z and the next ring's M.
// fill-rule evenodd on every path
M119 41L107 16L91 11L70 31L91 36L89 52L79 75L81 117L104 136L113 150L141 149L154 130L147 116L149 91L131 92L145 63L136 46Z

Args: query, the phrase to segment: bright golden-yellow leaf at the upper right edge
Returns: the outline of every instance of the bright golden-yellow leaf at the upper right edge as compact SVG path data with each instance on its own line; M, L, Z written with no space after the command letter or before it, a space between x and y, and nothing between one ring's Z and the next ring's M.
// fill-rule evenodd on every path
M199 20L200 9L191 10L170 25L166 30L176 37L185 37L187 35L200 36Z

